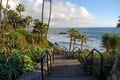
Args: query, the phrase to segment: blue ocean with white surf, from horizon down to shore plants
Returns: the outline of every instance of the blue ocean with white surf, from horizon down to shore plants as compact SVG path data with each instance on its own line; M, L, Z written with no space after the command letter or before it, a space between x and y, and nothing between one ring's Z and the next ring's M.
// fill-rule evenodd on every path
M68 30L70 28L50 28L48 33L48 40L52 43L58 43L61 48L69 48L69 34ZM83 45L84 49L92 50L93 48L99 51L105 51L102 46L102 35L109 32L113 34L120 35L120 29L118 28L76 28L80 33L85 34L88 38L86 44ZM60 33L67 34L60 34ZM80 46L80 42L77 42L75 46Z

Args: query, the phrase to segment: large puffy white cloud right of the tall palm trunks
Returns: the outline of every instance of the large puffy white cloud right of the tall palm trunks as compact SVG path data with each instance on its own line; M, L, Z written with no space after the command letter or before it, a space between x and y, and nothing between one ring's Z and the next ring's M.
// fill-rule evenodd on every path
M95 17L86 8L77 7L70 2L57 2L53 5L54 26L60 27L79 27L93 24Z

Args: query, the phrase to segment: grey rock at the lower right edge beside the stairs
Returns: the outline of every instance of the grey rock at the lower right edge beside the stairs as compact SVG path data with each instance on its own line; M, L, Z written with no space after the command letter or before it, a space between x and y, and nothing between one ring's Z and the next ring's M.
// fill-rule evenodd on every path
M120 52L117 52L115 56L115 62L108 80L120 80Z

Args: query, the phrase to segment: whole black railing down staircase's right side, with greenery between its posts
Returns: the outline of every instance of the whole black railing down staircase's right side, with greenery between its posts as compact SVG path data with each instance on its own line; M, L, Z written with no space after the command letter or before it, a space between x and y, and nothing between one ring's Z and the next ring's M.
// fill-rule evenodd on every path
M64 51L67 51L66 48L64 48ZM85 71L88 71L91 75L94 71L94 73L98 75L99 80L104 80L102 53L99 52L97 49L92 49L91 52L85 57L82 57L81 54L83 54L81 49L79 47L75 47L71 52L67 52L67 57L75 58L75 56L77 55L77 58L80 63L83 64L83 68ZM100 59L98 59L98 62L95 62L96 57L94 57L94 54L99 54Z

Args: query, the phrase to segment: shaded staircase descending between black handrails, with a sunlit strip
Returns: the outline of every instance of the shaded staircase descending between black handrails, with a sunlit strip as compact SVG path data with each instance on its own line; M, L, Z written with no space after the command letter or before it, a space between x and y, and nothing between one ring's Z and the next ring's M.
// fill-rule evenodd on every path
M66 59L63 55L55 55L52 74L45 80L97 80L86 76L77 59Z

